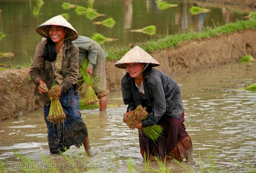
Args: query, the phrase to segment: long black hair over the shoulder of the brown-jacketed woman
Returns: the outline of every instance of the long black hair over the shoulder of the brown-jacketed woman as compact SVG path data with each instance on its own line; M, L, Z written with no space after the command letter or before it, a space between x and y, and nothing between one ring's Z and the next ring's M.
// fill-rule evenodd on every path
M44 48L43 58L44 60L54 61L56 60L56 57L57 57L57 52L55 49L55 43L53 42L52 39L47 38L47 43Z

